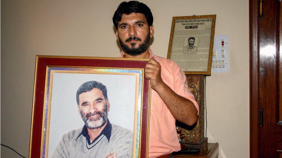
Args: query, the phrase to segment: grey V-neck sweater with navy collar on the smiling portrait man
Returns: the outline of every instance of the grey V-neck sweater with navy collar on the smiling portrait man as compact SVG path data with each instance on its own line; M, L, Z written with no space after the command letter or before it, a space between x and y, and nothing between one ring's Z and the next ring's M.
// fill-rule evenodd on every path
M52 157L107 157L111 152L118 157L132 157L132 146L133 133L108 120L101 134L93 141L85 125L64 134Z

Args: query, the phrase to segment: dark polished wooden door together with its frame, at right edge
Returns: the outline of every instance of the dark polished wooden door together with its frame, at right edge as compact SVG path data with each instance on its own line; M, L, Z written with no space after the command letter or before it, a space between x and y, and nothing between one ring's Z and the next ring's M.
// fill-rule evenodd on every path
M262 58L259 57L259 47L260 47L260 41L263 41L263 38L265 38L266 35L269 36L268 40L275 41L276 45L276 51L279 51L281 47L280 43L280 32L277 30L277 28L281 27L280 24L280 7L281 7L281 0L271 0L271 1L264 1L264 11L265 11L265 16L263 19L259 18L259 0L249 0L249 33L250 33L250 157L260 157L261 156L261 151L260 149L263 149L264 146L262 146L261 140L264 139L264 137L261 135L261 132L265 132L265 128L259 127L259 108L262 107L265 109L265 120L264 122L270 123L268 129L273 129L274 130L274 136L271 137L271 140L276 141L276 144L273 146L267 146L268 147L268 152L271 152L270 154L273 156L275 155L274 152L279 151L281 152L281 136L282 136L282 127L281 124L278 123L279 121L279 115L280 113L277 111L279 109L279 106L281 106L281 100L279 100L279 95L281 95L279 92L279 84L280 79L279 79L279 70L281 70L281 67L279 63L281 63L281 58L279 59L279 54L276 54L276 56L273 58L275 60L275 65L270 65L269 63L266 63ZM273 9L273 10L272 10ZM279 12L279 14L277 14ZM279 16L277 16L279 15ZM270 30L270 25L265 25L265 22L267 20L273 20L271 21L273 24L274 30ZM272 27L272 26L271 26ZM260 29L263 29L260 31ZM281 29L281 28L280 28ZM266 35L264 35L264 31L266 31ZM272 32L273 31L273 32ZM274 36L271 36L271 33L274 34ZM274 39L276 38L276 39ZM279 42L278 42L279 41ZM281 53L281 52L279 52ZM259 61L262 61L259 63ZM268 105L268 108L266 108L266 105L263 105L264 98L259 98L259 92L261 92L261 83L263 78L263 72L261 71L260 68L264 68L264 66L269 66L270 69L266 69L267 71L272 72L273 70L276 71L276 74L272 74L273 76L270 76L273 78L273 80L270 82L270 86L272 86L274 93L273 95L266 95L266 96L274 96L271 97L273 102L267 102L270 105ZM268 79L268 81L270 81ZM269 92L270 93L270 92ZM263 94L263 93L261 93ZM265 95L265 94L263 94ZM270 99L270 100L271 100ZM261 102L262 104L260 104ZM279 103L280 102L280 103ZM272 104L273 103L273 104ZM279 103L280 105L277 105L276 103ZM270 107L273 106L273 107ZM271 110L270 110L271 109ZM266 111L267 110L267 111ZM273 114L275 112L275 114ZM276 118L270 117L271 113L273 115L276 115ZM265 123L267 125L267 123ZM278 133L277 133L278 132ZM277 134L279 134L279 137L277 137ZM272 136L272 135L271 135ZM279 138L279 139L277 139ZM274 142L275 143L275 142ZM272 149L275 147L276 149L269 150L270 148ZM268 153L267 153L268 154ZM282 153L279 153L280 156Z

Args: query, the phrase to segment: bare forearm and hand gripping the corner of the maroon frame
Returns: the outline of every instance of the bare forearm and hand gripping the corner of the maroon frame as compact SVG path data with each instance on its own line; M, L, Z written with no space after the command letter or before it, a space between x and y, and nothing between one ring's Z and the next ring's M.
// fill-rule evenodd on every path
M145 77L150 79L151 87L159 94L175 119L187 125L193 125L197 121L197 108L190 100L179 96L164 83L161 78L161 65L156 60L151 59L146 64Z

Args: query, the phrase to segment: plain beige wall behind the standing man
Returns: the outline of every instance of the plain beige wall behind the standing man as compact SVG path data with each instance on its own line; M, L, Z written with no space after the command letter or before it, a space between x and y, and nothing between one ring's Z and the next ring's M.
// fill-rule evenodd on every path
M173 16L216 14L229 35L230 72L207 77L207 137L220 157L249 156L247 0L146 0L154 16L151 49L166 57ZM112 15L120 1L1 1L1 143L29 152L36 55L117 57ZM1 146L1 156L10 154Z

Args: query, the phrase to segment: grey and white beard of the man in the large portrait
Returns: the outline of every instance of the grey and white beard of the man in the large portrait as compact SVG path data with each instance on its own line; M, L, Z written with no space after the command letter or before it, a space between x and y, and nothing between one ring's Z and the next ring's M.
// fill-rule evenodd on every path
M99 117L93 118L93 119L89 118L90 116L94 116L97 114L99 115ZM87 113L85 115L85 113L83 113L80 110L80 115L87 128L97 129L99 127L102 127L103 125L105 125L108 119L108 103L105 105L105 108L103 111L95 111L94 113Z

